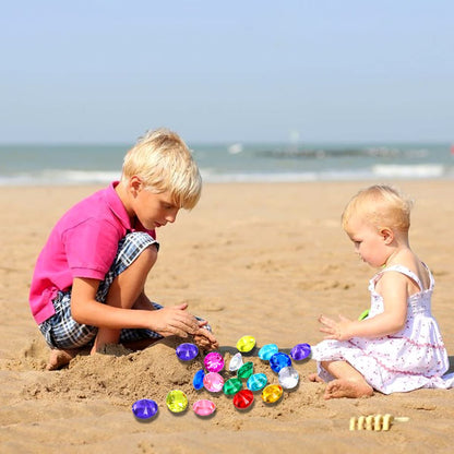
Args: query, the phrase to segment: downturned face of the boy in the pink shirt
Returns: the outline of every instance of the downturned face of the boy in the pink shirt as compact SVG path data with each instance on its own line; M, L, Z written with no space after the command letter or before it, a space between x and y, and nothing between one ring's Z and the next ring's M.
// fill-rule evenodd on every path
M133 199L132 210L140 223L153 230L174 223L180 208L174 204L169 192L156 194L141 187Z

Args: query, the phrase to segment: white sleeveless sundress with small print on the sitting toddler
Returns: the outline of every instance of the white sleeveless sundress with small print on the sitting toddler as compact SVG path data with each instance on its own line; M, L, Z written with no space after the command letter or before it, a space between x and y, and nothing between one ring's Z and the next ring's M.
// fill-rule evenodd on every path
M389 271L405 274L421 289L408 298L405 327L398 333L378 338L321 342L312 348L312 359L319 361L319 375L324 381L334 379L320 361L344 360L358 370L374 390L384 394L419 387L453 387L454 374L442 377L449 369L449 358L431 313L434 280L429 270L428 289L423 289L415 273L402 265L377 273L369 283L371 307L368 319L383 312L383 298L375 291L375 285Z

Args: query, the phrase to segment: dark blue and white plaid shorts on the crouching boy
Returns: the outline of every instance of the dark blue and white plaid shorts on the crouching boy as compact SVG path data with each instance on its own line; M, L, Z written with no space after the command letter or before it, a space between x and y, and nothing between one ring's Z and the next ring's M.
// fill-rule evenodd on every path
M148 234L134 231L128 234L118 243L117 256L112 266L106 274L105 279L99 284L96 292L96 300L105 303L107 294L113 279L122 273L135 259L150 246L159 248L159 243ZM70 349L91 346L96 337L96 326L77 323L71 316L71 289L59 291L53 299L56 313L39 325L47 344L50 348ZM153 302L155 309L163 306ZM140 340L145 338L159 339L163 336L152 330L126 328L121 330L120 343Z

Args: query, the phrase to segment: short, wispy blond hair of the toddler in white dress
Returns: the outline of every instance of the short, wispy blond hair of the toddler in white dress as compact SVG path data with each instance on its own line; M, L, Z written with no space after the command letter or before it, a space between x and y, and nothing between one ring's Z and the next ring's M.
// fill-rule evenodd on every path
M391 228L408 232L413 202L395 188L375 184L359 191L347 204L342 215L342 226L347 229L354 216L360 216L378 230Z

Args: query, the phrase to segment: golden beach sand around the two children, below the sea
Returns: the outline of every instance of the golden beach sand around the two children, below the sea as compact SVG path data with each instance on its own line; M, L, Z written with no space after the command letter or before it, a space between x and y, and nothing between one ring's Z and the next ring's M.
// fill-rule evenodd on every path
M361 263L339 216L367 182L205 184L200 204L158 231L158 262L146 290L166 306L187 301L206 318L223 351L252 335L258 347L290 348L322 339L323 312L357 318L369 307L374 270ZM454 355L453 181L402 181L415 200L410 240L435 280L433 313ZM0 191L0 451L1 453L428 453L452 452L454 391L418 390L370 398L323 399L324 385L307 381L312 360L296 363L298 389L265 405L260 393L247 411L231 398L192 389L200 359L179 362L175 345L140 353L121 347L79 356L69 368L44 370L48 349L28 310L36 256L61 214L98 188L2 188ZM226 359L230 358L226 353ZM255 371L277 382L256 356ZM226 373L228 377L228 373ZM191 408L176 416L171 390L190 406L211 398L214 416ZM150 422L131 405L153 398ZM349 431L351 416L409 417L387 432Z

